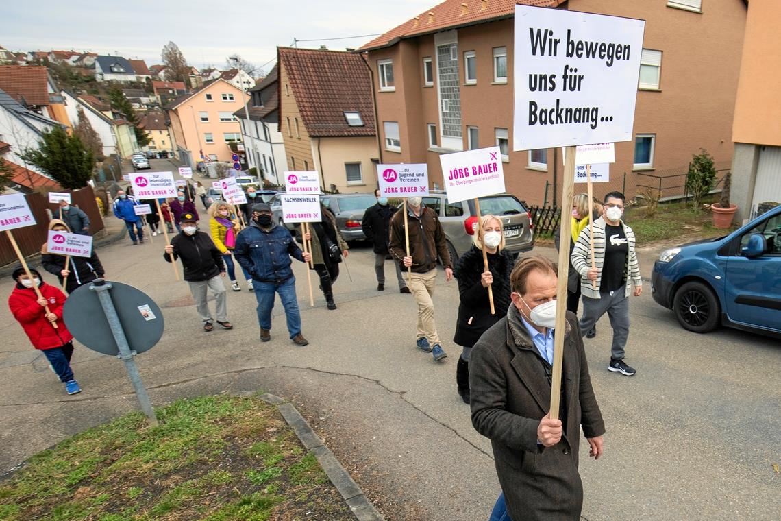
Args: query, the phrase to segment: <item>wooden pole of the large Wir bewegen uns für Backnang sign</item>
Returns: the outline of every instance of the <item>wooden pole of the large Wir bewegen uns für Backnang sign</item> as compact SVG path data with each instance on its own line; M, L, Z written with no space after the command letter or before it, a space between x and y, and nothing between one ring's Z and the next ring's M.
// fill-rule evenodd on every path
M575 190L575 147L567 147L562 180L562 205L572 205ZM564 203L567 203L566 205ZM572 219L562 218L562 233L558 237L558 287L556 291L556 334L553 341L553 369L551 373L551 418L558 419L558 408L562 398L562 362L564 360L564 324L567 307L567 277L569 276L569 243L572 241Z

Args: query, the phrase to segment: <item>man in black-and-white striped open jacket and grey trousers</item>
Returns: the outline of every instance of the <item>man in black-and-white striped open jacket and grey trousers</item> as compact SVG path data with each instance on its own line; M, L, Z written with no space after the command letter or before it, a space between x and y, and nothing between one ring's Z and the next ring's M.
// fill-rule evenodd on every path
M594 221L594 268L591 267L590 229L583 228L572 248L572 267L580 273L583 316L580 330L590 331L604 313L610 317L613 344L608 371L633 376L637 371L624 362L629 337L629 294L643 292L640 266L632 228L621 220L624 194L612 191L604 196L602 217ZM596 289L592 280L596 280Z

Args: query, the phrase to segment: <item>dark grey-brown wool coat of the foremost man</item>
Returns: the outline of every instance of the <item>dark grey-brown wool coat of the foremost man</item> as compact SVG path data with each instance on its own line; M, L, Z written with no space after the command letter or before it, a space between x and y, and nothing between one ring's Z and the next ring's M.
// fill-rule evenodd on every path
M517 313L510 306L509 313ZM577 318L567 312L562 367L562 441L537 444L537 426L551 405L545 364L526 328L508 317L480 337L469 360L472 424L490 438L501 489L512 519L580 519L583 484L578 473L580 427L604 434ZM548 366L550 367L550 366Z

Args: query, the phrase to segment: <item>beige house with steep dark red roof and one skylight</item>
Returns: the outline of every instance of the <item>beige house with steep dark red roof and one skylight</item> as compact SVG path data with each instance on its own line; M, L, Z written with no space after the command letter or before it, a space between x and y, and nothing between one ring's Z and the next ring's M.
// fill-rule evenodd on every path
M284 47L276 55L284 170L316 170L324 190L373 193L379 150L362 56Z

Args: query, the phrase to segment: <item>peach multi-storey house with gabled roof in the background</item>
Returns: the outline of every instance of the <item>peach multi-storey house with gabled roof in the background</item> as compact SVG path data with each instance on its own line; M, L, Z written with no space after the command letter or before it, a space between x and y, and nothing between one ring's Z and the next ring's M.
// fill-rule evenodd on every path
M169 102L165 109L180 160L187 166L205 157L230 161L230 145L241 143L234 112L246 99L240 88L218 78Z

